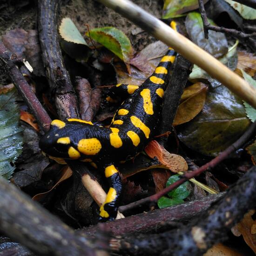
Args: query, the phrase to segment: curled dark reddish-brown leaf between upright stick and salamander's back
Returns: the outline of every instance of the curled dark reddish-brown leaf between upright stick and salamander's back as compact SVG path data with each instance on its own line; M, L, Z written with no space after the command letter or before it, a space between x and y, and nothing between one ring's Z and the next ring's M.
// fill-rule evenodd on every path
M76 92L79 97L79 108L81 118L91 121L100 108L101 89L92 89L87 79L76 77Z

